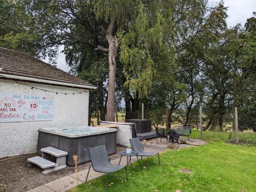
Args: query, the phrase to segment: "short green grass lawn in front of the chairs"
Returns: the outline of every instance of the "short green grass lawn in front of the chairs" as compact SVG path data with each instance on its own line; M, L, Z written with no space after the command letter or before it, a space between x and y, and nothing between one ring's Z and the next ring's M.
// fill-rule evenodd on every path
M224 142L210 142L206 146L168 150L150 159L150 170L141 171L134 163L134 172L128 182L114 178L108 191L255 191L256 147L232 145ZM146 166L146 160L143 160ZM189 170L182 173L181 170ZM129 174L130 174L129 170ZM124 171L118 173L124 177ZM105 176L90 183L104 188ZM71 190L94 191L85 184Z

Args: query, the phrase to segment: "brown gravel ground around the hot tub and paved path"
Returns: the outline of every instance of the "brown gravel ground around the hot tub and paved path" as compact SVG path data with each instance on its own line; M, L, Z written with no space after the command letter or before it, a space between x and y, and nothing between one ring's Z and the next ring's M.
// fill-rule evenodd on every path
M205 145L207 142L199 139L189 139L191 143ZM158 138L158 144L156 138L143 140L143 147L145 151L163 151L168 146L167 140ZM196 147L185 144L179 144L179 148ZM116 154L110 156L110 159L120 158L120 151L125 150L123 147L117 147ZM41 169L37 166L28 167L27 159L29 157L36 156L36 154L19 155L16 158L0 162L0 191L7 192L22 192L40 185L49 183L61 177L74 173L74 167L67 167L64 170L50 173L48 175L41 174ZM0 160L5 158L0 158ZM91 162L78 165L78 171L82 171L90 166Z

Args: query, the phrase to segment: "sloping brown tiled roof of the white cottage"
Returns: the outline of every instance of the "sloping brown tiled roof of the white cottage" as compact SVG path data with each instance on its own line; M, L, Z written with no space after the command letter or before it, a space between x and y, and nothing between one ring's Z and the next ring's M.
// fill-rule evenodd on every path
M26 53L0 47L0 74L93 86ZM75 86L74 86L75 87Z

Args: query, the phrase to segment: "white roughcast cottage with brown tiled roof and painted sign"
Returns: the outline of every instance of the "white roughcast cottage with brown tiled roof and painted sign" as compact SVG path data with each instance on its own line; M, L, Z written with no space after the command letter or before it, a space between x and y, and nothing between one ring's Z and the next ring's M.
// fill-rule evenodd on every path
M0 47L0 157L36 152L38 128L88 125L89 90L95 88Z

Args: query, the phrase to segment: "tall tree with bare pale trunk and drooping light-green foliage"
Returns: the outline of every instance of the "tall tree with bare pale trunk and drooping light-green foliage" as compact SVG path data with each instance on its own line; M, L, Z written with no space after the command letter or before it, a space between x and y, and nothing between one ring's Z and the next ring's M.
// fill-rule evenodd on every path
M159 1L148 3L99 0L93 3L96 18L109 21L107 29L101 26L109 47L98 45L95 49L109 54L106 121L115 121L115 78L119 49L120 61L124 64L123 73L126 77L124 86L137 93L139 97L145 97L147 90L152 86L154 65L157 55L163 51L163 34L166 30L164 27L167 26L159 11L159 5L161 5Z

